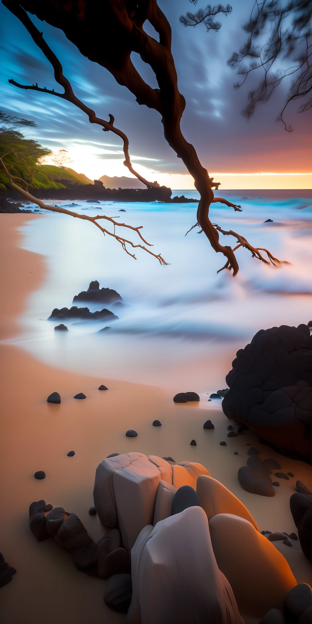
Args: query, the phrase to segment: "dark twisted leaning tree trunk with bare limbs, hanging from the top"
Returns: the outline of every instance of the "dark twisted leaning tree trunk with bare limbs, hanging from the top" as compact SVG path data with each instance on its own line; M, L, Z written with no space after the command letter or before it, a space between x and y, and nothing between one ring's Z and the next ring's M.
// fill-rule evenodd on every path
M42 32L39 32L29 19L26 13L29 11L42 21L61 29L81 54L90 61L105 67L120 85L127 87L135 95L138 104L144 104L161 115L165 139L177 156L182 158L185 167L194 178L195 188L200 193L197 223L193 227L200 227L200 232L205 233L212 248L225 256L226 263L220 270L227 268L233 269L233 275L238 273L238 262L234 252L240 247L246 248L251 252L252 257L266 264L270 262L273 265L280 264L280 261L274 258L270 251L255 248L243 236L232 230L222 230L210 221L209 208L212 203L225 203L235 211L240 210L240 206L223 198L213 197L212 188L218 188L220 183L213 182L213 178L209 177L207 170L200 163L195 148L183 137L180 121L185 109L185 99L178 90L177 72L171 51L170 24L156 0L102 0L100 3L97 0L71 0L70 2L46 0L44 3L40 0L22 0L21 2L2 0L2 4L24 24L34 42L51 62L54 77L64 88L64 94L47 90L46 87L43 89L37 84L21 85L14 80L9 80L11 84L21 89L32 89L67 99L84 110L91 123L102 125L104 131L111 130L118 134L124 140L125 163L130 169L130 159L127 163L126 155L129 145L127 137L120 130L115 129L112 115L109 115L109 122L99 119L93 110L77 99L69 80L64 77L61 63L47 45ZM149 21L155 28L159 41L144 31L145 21ZM152 89L135 69L130 58L132 52L137 52L141 59L152 68L158 83L157 89ZM132 170L132 173L135 172ZM135 175L142 180L137 173ZM153 185L147 182L147 185L149 184ZM64 212L64 209L55 208L54 210ZM74 216L74 213L71 214ZM95 225L99 227L98 223ZM219 232L237 239L237 245L233 250L230 246L220 243ZM268 260L263 257L261 251L266 253Z

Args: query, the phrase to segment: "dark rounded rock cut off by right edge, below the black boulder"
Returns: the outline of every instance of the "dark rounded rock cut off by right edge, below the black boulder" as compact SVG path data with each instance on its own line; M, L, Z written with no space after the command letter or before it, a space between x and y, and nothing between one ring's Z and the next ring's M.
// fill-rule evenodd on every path
M296 492L290 497L290 511L298 529L302 552L312 563L312 499Z

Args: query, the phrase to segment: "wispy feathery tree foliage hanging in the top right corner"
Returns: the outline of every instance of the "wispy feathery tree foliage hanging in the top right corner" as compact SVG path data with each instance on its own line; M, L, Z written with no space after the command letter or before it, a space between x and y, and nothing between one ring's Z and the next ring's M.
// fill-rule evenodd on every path
M197 4L197 0L190 2ZM213 22L217 12L228 15L231 11L229 5L213 9L208 5L195 14L188 12L180 17L180 21L185 26L204 23L207 31L218 30L220 22ZM227 62L243 76L234 88L239 89L251 72L261 72L263 77L258 87L249 92L249 101L242 114L250 119L258 102L268 102L276 87L285 78L293 77L285 106L278 117L287 132L292 132L283 117L288 104L301 100L300 112L312 107L312 0L256 0L243 30L248 38Z

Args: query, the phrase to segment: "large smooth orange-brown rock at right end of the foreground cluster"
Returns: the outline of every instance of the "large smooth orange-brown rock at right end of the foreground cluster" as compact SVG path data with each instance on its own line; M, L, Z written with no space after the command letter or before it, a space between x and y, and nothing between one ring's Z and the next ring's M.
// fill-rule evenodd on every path
M213 516L209 530L218 568L232 587L241 615L261 618L272 608L282 611L296 579L277 548L236 515Z

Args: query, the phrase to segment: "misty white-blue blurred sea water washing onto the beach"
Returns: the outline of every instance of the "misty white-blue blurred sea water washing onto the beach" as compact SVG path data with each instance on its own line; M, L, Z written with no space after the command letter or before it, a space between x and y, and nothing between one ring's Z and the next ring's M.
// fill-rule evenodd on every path
M173 191L196 198L198 193ZM216 254L198 228L197 203L61 202L87 215L105 214L120 222L142 225L142 235L162 253L168 266L139 248L137 260L92 224L66 215L46 213L22 228L23 247L46 256L47 274L29 297L20 319L22 348L54 366L136 383L207 392L225 387L236 350L261 328L307 323L312 318L312 203L310 200L242 200L243 212L216 205L213 223L243 234L254 246L268 248L280 268L236 252L240 271L217 275L224 258ZM54 202L53 202L54 203ZM125 212L119 212L120 209ZM264 223L271 218L273 223ZM101 225L105 223L102 220ZM112 231L110 225L105 227ZM135 232L120 228L129 240ZM236 239L220 235L225 245ZM129 250L131 248L129 247ZM91 280L113 288L124 308L107 307L119 316L111 323L74 325L54 332L46 321L53 308L71 307L74 295ZM43 320L42 320L43 319ZM110 329L97 333L104 326ZM187 387L186 387L187 386Z

